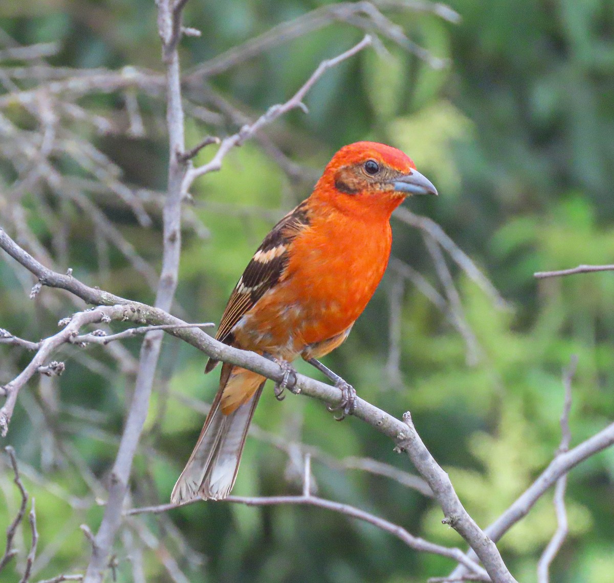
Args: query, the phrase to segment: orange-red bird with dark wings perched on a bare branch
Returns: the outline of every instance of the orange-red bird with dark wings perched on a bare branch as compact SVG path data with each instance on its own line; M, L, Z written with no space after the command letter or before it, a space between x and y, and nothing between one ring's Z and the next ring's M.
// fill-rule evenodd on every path
M348 338L371 299L390 257L392 211L413 194L437 195L437 189L405 153L382 143L351 143L252 256L216 339L278 362L284 370L278 398L295 381L290 363L300 356L341 389L341 417L352 412L356 391L318 359ZM217 364L210 358L205 372ZM222 364L219 390L172 503L228 496L265 381Z

